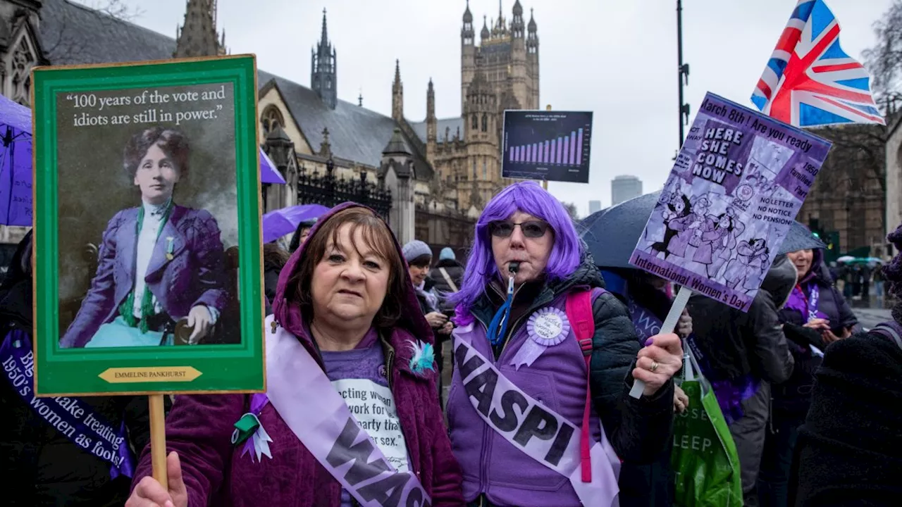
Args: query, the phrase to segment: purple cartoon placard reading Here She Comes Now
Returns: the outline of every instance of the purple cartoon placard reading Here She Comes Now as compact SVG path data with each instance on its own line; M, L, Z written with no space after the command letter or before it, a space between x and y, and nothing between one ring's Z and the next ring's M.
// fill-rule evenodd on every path
M630 263L748 311L830 146L707 94Z

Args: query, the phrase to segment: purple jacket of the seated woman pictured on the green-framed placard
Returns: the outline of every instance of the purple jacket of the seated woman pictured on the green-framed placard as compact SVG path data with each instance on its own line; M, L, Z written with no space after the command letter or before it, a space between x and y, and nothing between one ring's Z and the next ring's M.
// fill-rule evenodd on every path
M61 347L85 346L97 328L115 319L119 305L134 289L138 210L123 209L106 225L97 274L78 314L60 339ZM144 281L173 320L187 317L198 305L220 313L226 308L229 296L224 287L225 256L219 236L216 218L207 210L172 207L154 245ZM166 257L169 238L171 259Z

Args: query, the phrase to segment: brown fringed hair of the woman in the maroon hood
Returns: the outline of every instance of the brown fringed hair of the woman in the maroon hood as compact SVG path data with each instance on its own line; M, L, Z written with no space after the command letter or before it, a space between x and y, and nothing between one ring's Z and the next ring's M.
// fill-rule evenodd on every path
M364 244L388 264L388 288L385 300L382 301L382 308L376 313L373 324L377 327L392 327L406 307L409 285L405 278L407 268L389 226L373 211L364 207L345 208L318 225L316 234L308 237L307 244L304 245L304 253L298 267L291 273L288 285L296 288L295 293L286 294L286 297L300 305L301 313L311 315L313 300L310 281L313 279L313 271L326 256L328 244L340 244L338 233L345 224L351 225L351 237L360 230L363 233ZM349 245L344 246L346 248ZM358 245L350 246L360 253Z

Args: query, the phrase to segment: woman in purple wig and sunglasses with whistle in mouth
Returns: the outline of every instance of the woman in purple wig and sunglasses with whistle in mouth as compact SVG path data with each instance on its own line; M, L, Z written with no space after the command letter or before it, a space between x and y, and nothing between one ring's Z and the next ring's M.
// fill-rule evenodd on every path
M534 182L483 210L456 303L447 401L464 498L483 507L609 506L621 461L668 445L676 335L640 350L630 316L561 203ZM642 396L630 397L634 380Z

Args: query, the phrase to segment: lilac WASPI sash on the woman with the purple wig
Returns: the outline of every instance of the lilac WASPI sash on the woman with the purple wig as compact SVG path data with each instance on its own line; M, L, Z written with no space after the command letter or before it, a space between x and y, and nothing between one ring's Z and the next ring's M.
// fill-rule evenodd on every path
M584 483L580 466L580 428L522 392L495 368L492 361L480 354L467 341L472 336L473 326L456 330L454 354L461 381L479 417L525 455L570 479L584 506L616 507L621 464L604 435L604 428L601 428L601 442L595 442L591 449L592 482Z

